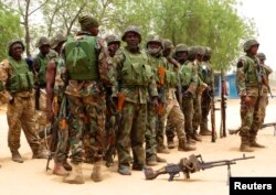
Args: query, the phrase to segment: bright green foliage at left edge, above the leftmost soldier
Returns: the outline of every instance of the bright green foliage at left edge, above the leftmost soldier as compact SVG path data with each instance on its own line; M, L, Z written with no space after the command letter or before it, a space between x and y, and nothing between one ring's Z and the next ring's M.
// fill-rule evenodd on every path
M0 59L7 57L8 44L11 40L22 36L19 15L0 2Z

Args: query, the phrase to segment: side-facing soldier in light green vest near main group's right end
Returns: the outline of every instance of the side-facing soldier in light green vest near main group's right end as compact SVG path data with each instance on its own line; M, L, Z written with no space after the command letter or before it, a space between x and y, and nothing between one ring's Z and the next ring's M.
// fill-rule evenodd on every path
M195 88L198 85L198 74L194 66L194 48L188 50L184 44L179 44L176 47L176 59L181 64L179 76L181 83L181 94L182 94L182 111L184 115L184 127L187 139L189 143L193 143L200 138L193 132L192 120L193 120L193 96L195 94ZM183 63L183 64L182 64Z

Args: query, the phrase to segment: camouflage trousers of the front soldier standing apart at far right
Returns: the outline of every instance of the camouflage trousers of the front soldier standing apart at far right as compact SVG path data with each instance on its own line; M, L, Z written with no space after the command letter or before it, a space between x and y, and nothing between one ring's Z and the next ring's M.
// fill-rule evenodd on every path
M244 97L241 98L241 137L256 138L264 122L267 96L251 96L251 106L246 106Z

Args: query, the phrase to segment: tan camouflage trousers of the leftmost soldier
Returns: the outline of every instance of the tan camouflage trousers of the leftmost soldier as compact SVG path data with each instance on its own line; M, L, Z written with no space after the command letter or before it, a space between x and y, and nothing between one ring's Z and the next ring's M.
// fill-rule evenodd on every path
M35 131L33 113L34 107L31 97L14 97L14 101L8 104L8 145L11 151L17 151L20 148L21 128L32 151L38 152L40 150L41 144Z

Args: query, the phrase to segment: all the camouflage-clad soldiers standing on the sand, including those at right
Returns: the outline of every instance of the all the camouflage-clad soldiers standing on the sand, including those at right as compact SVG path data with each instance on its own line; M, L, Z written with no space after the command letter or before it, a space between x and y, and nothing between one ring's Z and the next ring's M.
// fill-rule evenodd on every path
M135 25L123 33L121 46L116 35L105 40L97 36L95 18L79 17L78 22L81 31L74 36L56 34L51 41L41 37L36 45L40 53L33 61L23 59L22 41L9 45L9 57L0 65L0 91L8 99L8 142L13 161L23 162L19 153L21 128L33 158L47 158L51 138L41 141L38 132L53 128L53 123L59 129L53 173L73 184L84 183L83 162L94 164L91 177L99 182L103 160L110 166L115 154L121 175L166 162L157 155L169 153L164 133L172 149L176 132L179 151L193 151L201 136L211 136L208 115L214 72L210 47L182 43L174 47L170 40L152 34L142 48L141 33ZM256 142L263 121L253 120L264 118L254 112L254 104L264 105L258 100L259 80L254 68L259 61L252 52L254 47L258 47L257 42L237 63L243 152L263 147ZM263 73L268 75L267 71ZM267 91L262 87L262 93Z

